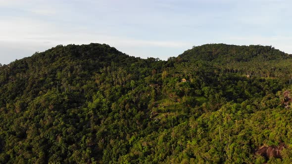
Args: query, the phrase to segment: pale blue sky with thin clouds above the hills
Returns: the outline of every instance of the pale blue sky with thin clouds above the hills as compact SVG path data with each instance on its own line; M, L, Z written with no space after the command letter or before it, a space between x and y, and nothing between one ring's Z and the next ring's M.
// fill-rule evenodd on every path
M206 43L292 53L291 6L292 0L0 0L0 63L91 42L162 60Z

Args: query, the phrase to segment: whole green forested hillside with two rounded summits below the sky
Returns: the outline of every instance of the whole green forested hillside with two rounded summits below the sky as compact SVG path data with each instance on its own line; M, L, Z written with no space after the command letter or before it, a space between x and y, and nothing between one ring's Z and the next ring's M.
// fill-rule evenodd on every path
M0 66L0 164L290 164L291 66L259 45L58 45ZM280 142L282 159L254 154Z

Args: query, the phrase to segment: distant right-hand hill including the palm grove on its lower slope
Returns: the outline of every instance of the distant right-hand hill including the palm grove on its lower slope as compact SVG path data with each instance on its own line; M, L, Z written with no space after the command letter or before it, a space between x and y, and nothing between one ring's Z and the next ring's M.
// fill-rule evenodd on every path
M225 73L278 78L283 82L292 77L292 55L272 46L205 44L185 51L177 59L208 62Z

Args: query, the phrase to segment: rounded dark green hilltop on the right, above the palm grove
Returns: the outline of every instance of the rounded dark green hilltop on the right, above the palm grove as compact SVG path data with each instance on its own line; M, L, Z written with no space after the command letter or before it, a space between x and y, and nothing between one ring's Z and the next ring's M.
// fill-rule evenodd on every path
M192 49L179 55L184 61L204 60L217 63L247 62L252 60L282 60L292 58L272 46L262 45L229 45L229 44L204 44L194 46Z

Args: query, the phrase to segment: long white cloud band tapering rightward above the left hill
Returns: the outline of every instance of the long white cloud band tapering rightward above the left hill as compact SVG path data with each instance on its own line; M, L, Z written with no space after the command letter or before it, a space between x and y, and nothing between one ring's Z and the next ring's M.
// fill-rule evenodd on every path
M127 47L185 47L189 45L189 43L182 41L137 40L125 37L115 37L98 32L87 31L86 28L83 29L79 27L73 27L71 30L66 30L53 23L49 24L44 21L23 18L2 20L2 23L4 26L0 26L0 41L50 41L55 44L82 44L84 42L97 41Z

